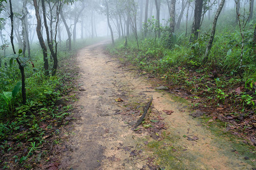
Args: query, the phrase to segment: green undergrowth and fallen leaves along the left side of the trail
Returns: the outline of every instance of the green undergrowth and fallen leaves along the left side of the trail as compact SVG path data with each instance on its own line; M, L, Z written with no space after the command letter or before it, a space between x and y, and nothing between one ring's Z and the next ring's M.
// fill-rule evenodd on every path
M47 168L47 158L54 146L61 143L60 127L74 119L72 102L77 97L69 93L76 90L74 81L79 78L75 54L96 41L77 42L72 51L61 45L58 50L60 69L55 76L44 74L42 50L34 44L33 57L24 71L26 104L22 104L18 63L10 62L13 56L3 58L2 62L7 65L0 68L1 169L31 169L35 162L45 163L41 168Z

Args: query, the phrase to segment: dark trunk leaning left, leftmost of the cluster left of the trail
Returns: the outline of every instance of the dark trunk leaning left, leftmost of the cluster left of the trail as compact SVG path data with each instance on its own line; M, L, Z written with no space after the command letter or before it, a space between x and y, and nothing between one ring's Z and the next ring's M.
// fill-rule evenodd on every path
M39 7L38 7L38 2L37 0L33 0L34 2L34 7L35 7L35 12L36 12L36 20L37 20L37 26L36 26L36 33L38 35L38 40L40 43L40 46L43 50L43 58L44 58L44 74L46 76L49 76L49 64L48 64L48 56L47 56L47 47L46 44L44 43L44 39L42 36L42 32L41 32L41 18L39 15Z

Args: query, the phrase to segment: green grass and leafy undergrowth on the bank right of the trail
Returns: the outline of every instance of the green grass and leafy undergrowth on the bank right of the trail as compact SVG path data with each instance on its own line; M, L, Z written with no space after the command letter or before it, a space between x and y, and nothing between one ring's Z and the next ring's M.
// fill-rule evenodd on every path
M201 25L199 38L189 41L185 23L172 36L170 27L161 25L158 38L156 20L148 19L139 35L139 44L135 36L129 36L127 41L115 41L108 50L121 61L130 62L160 79L171 92L191 99L194 109L201 109L214 120L229 122L228 129L232 133L246 138L246 143L256 145L256 53L253 41L256 20L254 16L245 26L242 44L240 27L231 19L235 12L227 10L218 19L212 49L206 60L210 20Z

